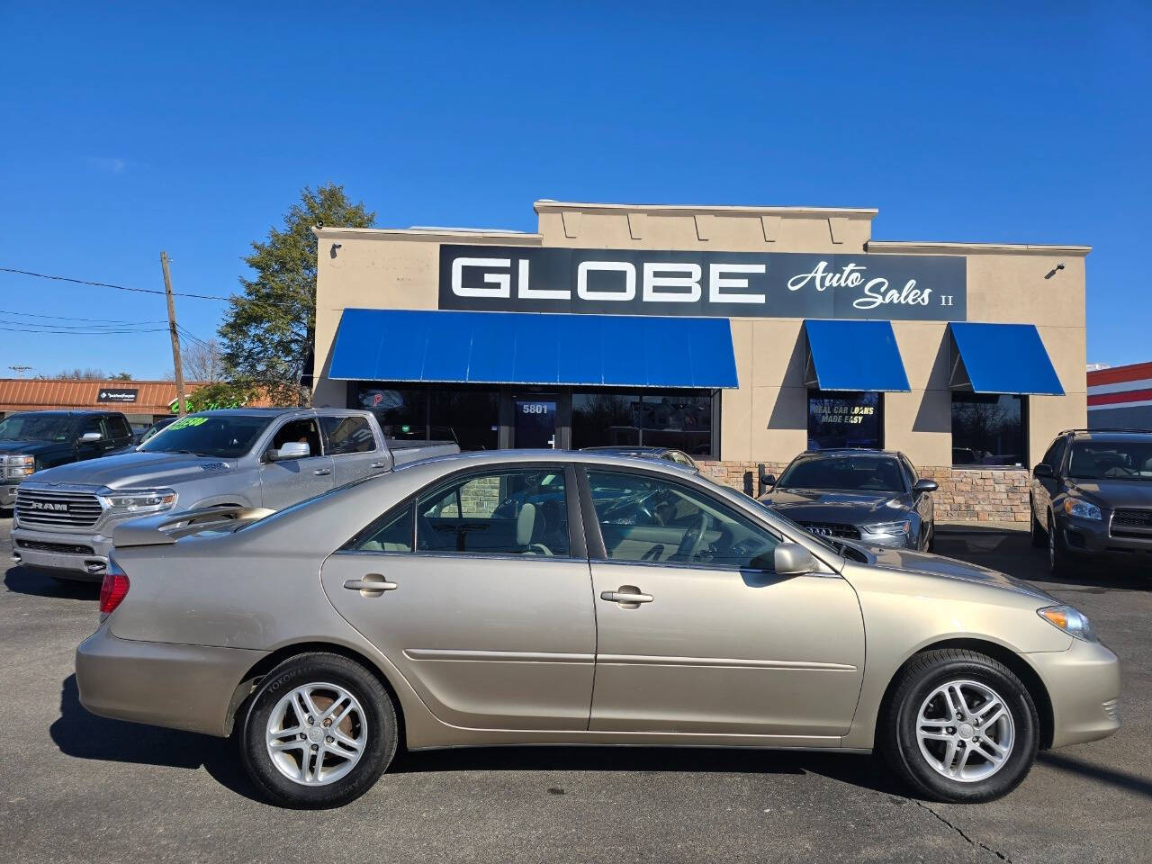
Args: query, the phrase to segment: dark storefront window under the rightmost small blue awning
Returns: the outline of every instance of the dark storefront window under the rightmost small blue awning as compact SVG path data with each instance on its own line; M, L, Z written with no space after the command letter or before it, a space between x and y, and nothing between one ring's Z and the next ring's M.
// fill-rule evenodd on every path
M952 394L952 463L1024 464L1024 400L996 393Z

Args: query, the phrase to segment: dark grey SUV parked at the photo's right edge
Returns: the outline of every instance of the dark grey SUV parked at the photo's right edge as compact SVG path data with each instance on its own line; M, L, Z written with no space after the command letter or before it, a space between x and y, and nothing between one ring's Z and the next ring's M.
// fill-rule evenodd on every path
M1069 575L1106 559L1152 564L1152 432L1069 430L1032 469L1032 545Z

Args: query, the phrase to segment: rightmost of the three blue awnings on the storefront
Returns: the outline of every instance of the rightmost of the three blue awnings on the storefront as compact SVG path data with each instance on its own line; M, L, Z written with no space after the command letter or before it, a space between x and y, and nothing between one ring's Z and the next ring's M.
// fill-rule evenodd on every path
M952 389L1064 395L1036 325L954 321L948 331Z

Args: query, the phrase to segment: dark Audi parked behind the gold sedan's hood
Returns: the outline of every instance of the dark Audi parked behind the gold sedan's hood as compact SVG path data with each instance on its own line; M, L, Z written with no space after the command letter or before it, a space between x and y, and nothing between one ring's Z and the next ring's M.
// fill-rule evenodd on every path
M932 492L903 453L802 453L760 497L778 513L821 537L929 551L935 540Z

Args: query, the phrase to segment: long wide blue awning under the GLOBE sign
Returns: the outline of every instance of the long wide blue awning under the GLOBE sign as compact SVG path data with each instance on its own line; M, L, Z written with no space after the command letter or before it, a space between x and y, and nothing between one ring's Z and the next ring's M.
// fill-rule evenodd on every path
M346 309L329 378L737 387L726 318Z

